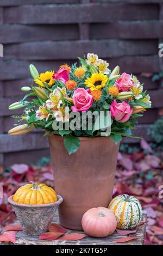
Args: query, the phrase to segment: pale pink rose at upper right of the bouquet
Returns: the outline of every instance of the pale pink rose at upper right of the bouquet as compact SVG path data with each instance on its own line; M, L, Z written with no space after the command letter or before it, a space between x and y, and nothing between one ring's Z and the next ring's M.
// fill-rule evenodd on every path
M117 79L115 86L118 88L119 92L126 92L133 86L134 81L131 76L127 73L123 73L120 78Z

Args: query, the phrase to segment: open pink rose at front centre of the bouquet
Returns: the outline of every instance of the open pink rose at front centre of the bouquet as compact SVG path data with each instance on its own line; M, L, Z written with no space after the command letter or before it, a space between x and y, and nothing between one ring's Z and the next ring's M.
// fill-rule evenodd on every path
M90 89L77 88L73 93L74 106L71 107L73 112L87 111L92 106L93 96L90 94Z

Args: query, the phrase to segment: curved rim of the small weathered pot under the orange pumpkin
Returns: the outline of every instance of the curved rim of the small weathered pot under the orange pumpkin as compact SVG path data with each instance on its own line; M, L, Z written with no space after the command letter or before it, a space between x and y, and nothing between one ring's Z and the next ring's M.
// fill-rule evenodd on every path
M13 201L14 194L8 198L8 202L13 206L18 206L20 208L47 208L47 207L53 207L53 206L59 206L63 202L63 198L58 194L57 195L57 202L51 203L51 204L18 204Z

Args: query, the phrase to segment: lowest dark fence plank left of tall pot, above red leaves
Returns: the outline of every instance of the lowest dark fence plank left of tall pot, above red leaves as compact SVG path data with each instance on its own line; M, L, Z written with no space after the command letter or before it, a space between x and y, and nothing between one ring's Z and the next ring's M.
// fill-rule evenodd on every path
M3 154L3 167L9 167L13 163L32 163L42 157L49 156L49 149L34 149L29 151L19 151ZM0 154L1 161L1 154Z

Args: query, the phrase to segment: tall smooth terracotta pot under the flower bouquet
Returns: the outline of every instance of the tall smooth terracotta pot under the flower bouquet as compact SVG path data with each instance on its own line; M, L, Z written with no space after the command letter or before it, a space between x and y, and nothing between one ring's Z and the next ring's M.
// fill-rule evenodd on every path
M60 225L80 230L84 212L108 207L112 199L120 143L108 137L79 139L78 151L69 156L64 138L48 136L55 190L64 198L59 206Z

